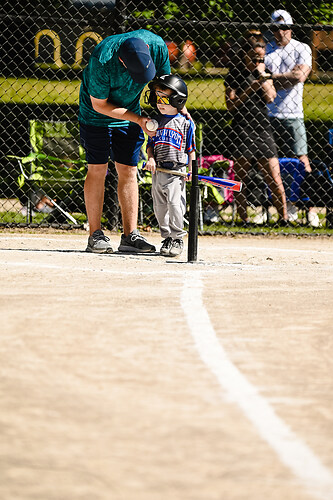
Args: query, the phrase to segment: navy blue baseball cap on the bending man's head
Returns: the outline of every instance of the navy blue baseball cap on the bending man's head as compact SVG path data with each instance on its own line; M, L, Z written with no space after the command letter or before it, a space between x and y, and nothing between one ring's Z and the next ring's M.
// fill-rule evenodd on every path
M137 83L150 82L156 75L149 47L141 38L127 38L120 46L119 57Z

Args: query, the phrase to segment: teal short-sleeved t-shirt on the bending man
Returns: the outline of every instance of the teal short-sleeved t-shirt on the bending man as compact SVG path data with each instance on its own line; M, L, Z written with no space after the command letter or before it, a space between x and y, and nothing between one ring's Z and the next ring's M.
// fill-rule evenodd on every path
M168 48L160 36L147 30L137 30L105 38L95 47L83 71L80 88L80 123L97 127L120 127L129 123L97 113L91 105L90 96L96 99L108 99L112 104L141 114L140 96L146 84L136 83L118 59L120 45L132 37L141 38L149 45L156 67L156 76L170 74Z

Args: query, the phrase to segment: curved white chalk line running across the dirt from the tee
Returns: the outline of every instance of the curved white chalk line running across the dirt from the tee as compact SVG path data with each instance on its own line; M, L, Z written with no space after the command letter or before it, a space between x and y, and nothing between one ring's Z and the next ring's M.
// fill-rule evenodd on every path
M333 474L277 416L258 389L229 359L216 337L202 301L202 291L200 274L187 275L181 294L181 306L202 361L303 487L319 500L332 500Z

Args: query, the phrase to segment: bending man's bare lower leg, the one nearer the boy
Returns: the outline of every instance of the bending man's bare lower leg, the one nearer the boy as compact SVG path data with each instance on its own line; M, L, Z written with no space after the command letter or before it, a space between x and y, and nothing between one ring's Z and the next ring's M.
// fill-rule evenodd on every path
M138 223L138 181L136 167L116 162L118 200L121 208L124 235L128 236Z

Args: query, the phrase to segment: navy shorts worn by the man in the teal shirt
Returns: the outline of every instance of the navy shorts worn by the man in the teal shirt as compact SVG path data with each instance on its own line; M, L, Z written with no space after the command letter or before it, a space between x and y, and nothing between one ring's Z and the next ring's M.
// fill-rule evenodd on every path
M102 165L111 160L136 166L144 142L142 128L136 123L124 127L96 127L80 123L81 144L88 164Z

